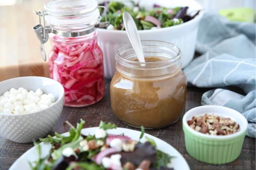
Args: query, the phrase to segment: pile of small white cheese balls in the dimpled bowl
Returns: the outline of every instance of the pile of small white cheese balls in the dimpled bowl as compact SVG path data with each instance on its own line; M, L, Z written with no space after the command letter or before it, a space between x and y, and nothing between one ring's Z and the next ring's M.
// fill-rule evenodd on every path
M44 94L38 88L35 92L25 88L11 88L0 96L0 113L23 114L43 110L55 102L52 93Z

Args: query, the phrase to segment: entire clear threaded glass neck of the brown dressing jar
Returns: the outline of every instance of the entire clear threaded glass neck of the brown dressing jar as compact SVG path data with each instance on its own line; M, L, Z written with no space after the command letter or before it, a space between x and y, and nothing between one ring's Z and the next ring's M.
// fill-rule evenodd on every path
M122 75L136 79L164 79L180 72L181 50L173 43L165 41L145 40L142 42L143 54L149 58L161 60L139 62L131 44L117 50L116 69Z

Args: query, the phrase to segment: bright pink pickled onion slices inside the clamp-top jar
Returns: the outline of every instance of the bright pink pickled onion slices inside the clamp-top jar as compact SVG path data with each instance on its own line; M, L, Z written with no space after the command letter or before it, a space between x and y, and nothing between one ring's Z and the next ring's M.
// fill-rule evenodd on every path
M95 34L90 39L52 37L50 76L64 86L66 106L87 106L105 93L102 51Z

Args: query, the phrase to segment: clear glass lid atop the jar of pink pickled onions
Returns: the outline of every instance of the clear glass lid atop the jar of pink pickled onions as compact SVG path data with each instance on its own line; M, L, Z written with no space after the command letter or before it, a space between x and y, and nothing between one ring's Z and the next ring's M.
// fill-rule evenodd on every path
M81 30L99 22L96 0L50 0L44 5L45 20L58 30Z

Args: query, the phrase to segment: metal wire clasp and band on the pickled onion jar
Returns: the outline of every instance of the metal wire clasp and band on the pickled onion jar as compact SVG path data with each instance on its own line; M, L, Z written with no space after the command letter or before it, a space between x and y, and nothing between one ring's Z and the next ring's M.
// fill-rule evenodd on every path
M35 33L37 34L38 39L41 42L41 55L42 55L42 59L44 61L46 61L46 52L45 52L45 47L44 44L48 41L49 36L48 33L54 33L56 35L60 35L60 36L65 36L65 37L77 37L77 36L83 36L83 35L87 35L91 32L93 32L95 30L95 28L105 28L108 27L109 22L107 21L107 11L106 11L106 7L104 6L98 6L97 8L104 8L104 16L105 16L105 22L100 22L100 20L98 21L97 24L94 25L93 28L84 30L84 31L80 31L80 32L65 32L65 31L60 31L54 28L50 28L49 26L46 26L45 24L45 15L48 15L46 13L46 11L41 11L39 10L37 11L33 11L36 15L39 16L39 24L35 25L33 27L33 30L35 31ZM96 10L97 8L95 8L94 10ZM92 11L90 11L92 12ZM68 15L68 16L80 16L80 15L85 15L87 13L90 12L86 12L86 13L82 13L82 14L76 14L76 15ZM60 15L61 16L61 15ZM43 25L41 23L41 17L43 18ZM100 19L100 17L99 17Z

